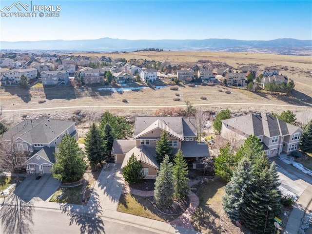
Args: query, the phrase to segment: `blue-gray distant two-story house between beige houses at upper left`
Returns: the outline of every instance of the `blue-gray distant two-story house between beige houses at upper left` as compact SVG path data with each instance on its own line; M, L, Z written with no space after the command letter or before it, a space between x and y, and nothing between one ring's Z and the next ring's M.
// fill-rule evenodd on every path
M62 71L42 71L40 73L42 85L68 85L69 73Z

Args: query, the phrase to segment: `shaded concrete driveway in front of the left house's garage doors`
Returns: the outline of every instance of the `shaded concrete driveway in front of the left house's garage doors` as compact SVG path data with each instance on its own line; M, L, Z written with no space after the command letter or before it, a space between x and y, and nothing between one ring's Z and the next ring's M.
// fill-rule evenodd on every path
M40 174L41 178L36 180L34 174L29 175L14 191L24 202L30 200L46 201L59 188L60 181L53 178L52 174Z

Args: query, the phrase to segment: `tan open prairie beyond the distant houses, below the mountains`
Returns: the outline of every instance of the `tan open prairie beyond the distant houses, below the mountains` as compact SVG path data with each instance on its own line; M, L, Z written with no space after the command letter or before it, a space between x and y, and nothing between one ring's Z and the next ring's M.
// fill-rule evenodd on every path
M295 89L306 95L312 95L312 57L276 55L264 53L230 53L230 52L203 52L203 51L151 51L129 53L76 53L72 55L106 56L111 58L146 59L168 61L171 63L197 63L198 60L209 60L213 63L225 63L233 68L256 65L260 70L266 67L280 70L280 74L287 75L296 83ZM213 64L211 63L211 64ZM208 63L209 64L209 63ZM220 67L222 68L222 67ZM226 68L226 67L224 67ZM304 98L297 93L298 98Z

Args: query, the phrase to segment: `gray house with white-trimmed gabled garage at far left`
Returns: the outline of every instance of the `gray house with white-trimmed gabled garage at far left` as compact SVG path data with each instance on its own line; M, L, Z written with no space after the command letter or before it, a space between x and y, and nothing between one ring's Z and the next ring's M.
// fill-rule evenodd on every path
M75 122L56 119L25 119L3 134L5 142L13 141L17 149L31 152L26 161L26 170L35 169L38 173L51 173L55 163L54 152L65 134L78 140Z

